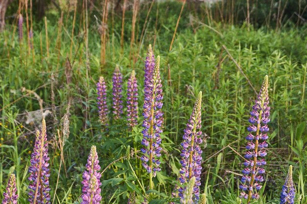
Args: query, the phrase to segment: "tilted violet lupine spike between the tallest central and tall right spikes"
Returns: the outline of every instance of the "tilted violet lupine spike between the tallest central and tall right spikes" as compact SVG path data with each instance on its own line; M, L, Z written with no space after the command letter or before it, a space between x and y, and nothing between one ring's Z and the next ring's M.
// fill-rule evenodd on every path
M203 139L200 138L202 135L202 91L199 92L197 100L195 102L192 114L186 128L184 129L183 142L181 146L181 160L182 165L180 169L179 181L183 184L190 180L190 178L195 177L195 185L193 189L193 198L196 202L199 200L200 191L199 186L201 185L201 161L202 161L202 149L200 144L203 142ZM185 188L179 188L179 197L183 198L183 192Z

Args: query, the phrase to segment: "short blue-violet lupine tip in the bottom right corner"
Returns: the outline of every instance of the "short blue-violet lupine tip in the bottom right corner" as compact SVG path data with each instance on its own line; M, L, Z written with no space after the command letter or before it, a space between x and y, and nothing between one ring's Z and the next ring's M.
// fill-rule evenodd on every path
M292 180L292 165L289 166L286 181L282 186L281 204L294 204L295 189Z

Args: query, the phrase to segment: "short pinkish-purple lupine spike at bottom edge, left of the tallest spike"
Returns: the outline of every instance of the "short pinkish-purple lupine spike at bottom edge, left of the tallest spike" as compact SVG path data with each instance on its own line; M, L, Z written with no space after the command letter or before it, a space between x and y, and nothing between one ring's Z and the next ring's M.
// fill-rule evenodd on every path
M99 204L102 200L100 178L101 173L96 146L92 146L90 155L85 165L86 170L83 172L82 178L82 202L81 204Z

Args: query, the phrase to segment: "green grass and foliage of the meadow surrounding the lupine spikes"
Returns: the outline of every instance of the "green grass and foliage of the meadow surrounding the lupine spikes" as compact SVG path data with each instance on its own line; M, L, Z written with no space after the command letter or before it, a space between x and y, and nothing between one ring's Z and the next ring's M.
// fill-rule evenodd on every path
M169 12L164 12L164 8ZM307 204L306 30L302 27L275 32L251 27L247 31L244 24L231 26L214 23L205 26L197 21L194 22L193 30L188 24L188 15L183 12L176 39L169 51L180 9L181 5L177 4L174 8L167 4L154 4L144 39L138 44L144 24L142 21L147 15L140 12L135 28L137 43L133 45L132 51L132 13L126 11L123 52L120 44L121 15L114 16L114 21L109 16L105 65L101 65L101 35L93 14L89 15L88 48L82 15L77 15L75 34L71 39L74 13L64 14L62 26L57 22L58 14L50 12L47 15L48 41L45 22L34 23L34 51L30 54L26 38L20 43L18 33L13 33L14 25L7 26L0 33L0 199L8 173L15 172L19 203L27 203L27 168L35 130L42 119L39 103L42 101L44 113L50 113L46 120L51 157L51 197L59 175L54 203L72 204L80 201L81 175L92 145L97 146L102 170L107 168L101 179L102 203L127 202L131 191L135 191L137 199L142 201L143 189L148 189L149 175L138 159L142 138L141 114L139 125L132 131L126 127L124 117L118 122L111 121L108 133L102 132L98 121L95 84L99 76L105 77L110 108L111 77L115 65L120 65L124 76L124 98L129 74L134 69L140 87L141 110L145 53L147 45L153 44L155 39L154 53L161 56L164 92L162 147L166 152L162 154L162 171L153 179L155 190L147 193L152 193L154 199L170 199L180 168L183 129L197 93L203 91L202 131L205 133L205 149L201 191L206 192L208 204L236 203L240 193L241 155L246 143L249 112L256 98L251 85L258 91L263 76L267 74L271 122L265 188L261 191L258 203L278 203L288 165L292 164L297 203ZM72 77L71 83L67 84L66 57L70 56L71 42L73 57L69 61ZM227 47L247 78L230 56L225 51L221 52L222 45ZM136 53L134 58L131 52L132 55ZM219 62L220 68L217 66ZM61 154L57 130L61 131L59 121L66 113L68 103L72 104L69 111L71 134ZM51 109L52 105L54 109ZM125 159L128 145L130 151L134 152L129 160ZM63 163L59 172L61 158Z

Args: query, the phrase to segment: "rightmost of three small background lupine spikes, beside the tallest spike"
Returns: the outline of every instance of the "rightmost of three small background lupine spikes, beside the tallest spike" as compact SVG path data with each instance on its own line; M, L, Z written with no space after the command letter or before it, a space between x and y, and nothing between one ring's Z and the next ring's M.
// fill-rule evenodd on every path
M127 120L128 125L133 127L137 125L138 103L137 103L137 81L134 70L131 72L127 83Z

